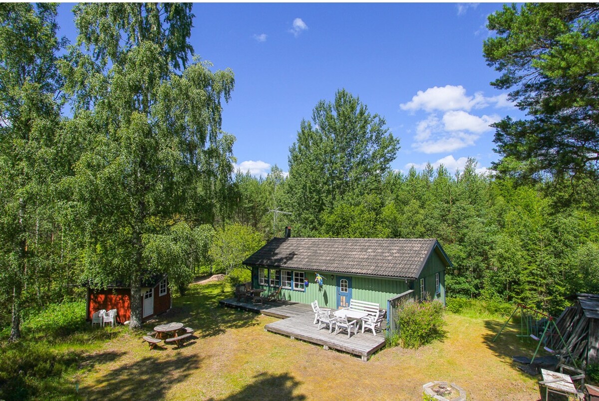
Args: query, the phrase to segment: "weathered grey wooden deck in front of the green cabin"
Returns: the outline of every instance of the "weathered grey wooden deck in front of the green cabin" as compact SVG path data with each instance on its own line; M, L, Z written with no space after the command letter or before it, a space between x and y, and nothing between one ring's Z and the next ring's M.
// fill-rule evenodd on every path
M335 335L334 332L329 334L328 329L324 327L317 330L318 325L314 324L314 312L312 312L312 308L308 304L277 301L255 305L237 301L234 298L220 300L219 303L223 306L237 307L251 312L262 313L262 315L281 318L282 320L265 325L265 330L283 334L292 339L319 344L324 349L332 348L358 355L362 357L363 361L367 361L371 354L385 345L385 336L380 332L377 332L376 336L373 336L372 331L362 334L358 330L358 334L352 334L348 339L345 332Z

